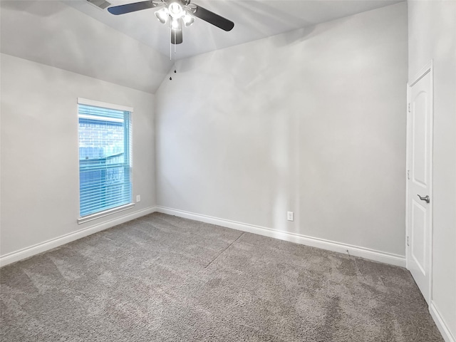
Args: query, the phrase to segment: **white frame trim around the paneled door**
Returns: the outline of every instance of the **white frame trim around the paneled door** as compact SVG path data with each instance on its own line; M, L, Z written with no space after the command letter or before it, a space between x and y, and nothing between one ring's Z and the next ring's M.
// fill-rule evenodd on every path
M409 165L409 153L410 153L410 146L409 146L409 139L411 133L411 123L410 123L410 113L408 111L408 105L410 103L411 97L411 88L415 85L421 78L430 73L430 185L429 185L429 196L430 196L430 203L429 203L429 214L430 214L430 227L429 227L429 293L427 294L427 305L430 306L432 302L432 259L433 259L433 227L434 227L434 187L433 187L433 167L434 167L434 68L433 68L433 61L431 60L428 62L418 73L415 74L412 81L407 83L407 103L406 103L406 113L407 113L407 134L406 134L406 148L405 148L405 266L409 269L409 254L408 254L408 237L410 236L410 207L409 207L409 186L408 186L408 170L410 170ZM425 294L423 294L425 296Z

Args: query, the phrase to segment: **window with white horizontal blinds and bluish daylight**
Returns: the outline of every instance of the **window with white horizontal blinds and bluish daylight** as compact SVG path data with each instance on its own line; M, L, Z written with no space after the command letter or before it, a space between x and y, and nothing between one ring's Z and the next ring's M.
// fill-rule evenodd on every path
M78 99L80 223L133 206L132 112L133 108Z

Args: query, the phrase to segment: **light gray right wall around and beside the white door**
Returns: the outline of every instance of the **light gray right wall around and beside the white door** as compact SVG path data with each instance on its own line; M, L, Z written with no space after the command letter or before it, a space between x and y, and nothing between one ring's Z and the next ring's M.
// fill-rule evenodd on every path
M409 81L431 59L434 66L431 310L456 338L456 1L408 6Z

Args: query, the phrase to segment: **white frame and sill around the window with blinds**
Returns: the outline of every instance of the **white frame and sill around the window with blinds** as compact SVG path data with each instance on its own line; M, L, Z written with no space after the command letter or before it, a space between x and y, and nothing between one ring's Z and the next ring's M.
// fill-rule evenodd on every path
M95 212L93 214L88 214L86 216L81 217L81 169L80 169L80 162L79 162L79 138L78 138L78 224L82 224L84 222L92 221L93 219L98 219L100 217L106 217L111 214L115 214L117 212L123 212L124 210L131 209L135 207L135 202L133 201L133 107L128 107L125 105L116 105L113 103L105 103L97 100L89 100L87 98L78 98L77 103L77 118L78 118L78 133L79 133L79 105L90 105L94 107L106 108L106 109L113 109L113 110L122 110L125 112L129 112L129 119L130 119L130 130L127 132L128 139L129 139L129 151L128 151L128 158L130 163L130 187L131 187L131 199L130 203L123 204L118 207L105 209L100 212ZM78 134L79 136L79 134Z

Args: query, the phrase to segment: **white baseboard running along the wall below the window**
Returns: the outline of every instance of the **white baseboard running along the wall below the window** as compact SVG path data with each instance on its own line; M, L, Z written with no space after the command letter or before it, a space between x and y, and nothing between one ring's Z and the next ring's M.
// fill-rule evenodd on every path
M26 247L24 249L19 249L19 251L11 252L9 254L5 254L0 256L0 267L6 266L7 264L11 264L13 262L26 259L28 257L32 257L33 255L46 252L49 249L53 249L59 247L63 244L68 244L68 242L73 242L77 239L81 239L82 237L87 237L90 234L94 234L96 232L100 232L104 229L108 229L110 227L114 227L118 224L131 221L132 219L137 219L138 217L142 217L147 214L152 214L152 212L156 211L156 207L149 207L147 209L142 209L138 212L133 212L131 214L118 217L115 219L111 219L109 221L105 221L103 223L94 224L93 226L86 227L76 232L72 232L69 234L62 235L61 237L56 237L54 239L50 239L45 242L41 242L39 244L35 244L31 247Z

